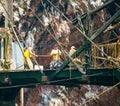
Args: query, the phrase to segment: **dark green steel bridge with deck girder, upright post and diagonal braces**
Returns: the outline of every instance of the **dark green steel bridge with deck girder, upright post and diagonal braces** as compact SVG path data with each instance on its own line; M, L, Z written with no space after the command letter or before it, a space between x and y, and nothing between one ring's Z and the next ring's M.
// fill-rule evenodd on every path
M110 0L103 6L98 7L88 13L83 14L81 17L73 21L73 24L79 23L79 21L90 20L88 17L92 17L100 10L106 8L113 3L119 3L120 0ZM83 67L85 74L81 73L78 68L68 67L68 64L72 61L70 58L66 59L64 63L56 70L2 70L0 72L0 106L14 106L15 98L21 88L24 87L35 87L36 84L40 85L62 85L67 87L79 86L80 84L90 84L90 85L104 85L112 86L120 82L120 69L119 64L115 62L112 55L103 55L103 58L107 58L107 65L99 66L99 55L94 52L90 53L89 49L92 48L92 42L96 39L103 31L105 31L111 23L118 23L120 20L120 9L95 33L89 35L90 29L86 27L83 28L80 24L81 29L84 29L83 33L85 35L85 42L80 46L76 53L71 57L75 58L79 56L83 51L85 54L86 64ZM89 22L88 22L89 23ZM89 35L89 36L88 36ZM89 38L89 39L88 39ZM99 46L98 46L99 48ZM120 49L117 50L118 52ZM117 55L114 56L117 58ZM100 61L102 63L103 61ZM111 66L112 62L112 66ZM110 65L110 66L109 66Z

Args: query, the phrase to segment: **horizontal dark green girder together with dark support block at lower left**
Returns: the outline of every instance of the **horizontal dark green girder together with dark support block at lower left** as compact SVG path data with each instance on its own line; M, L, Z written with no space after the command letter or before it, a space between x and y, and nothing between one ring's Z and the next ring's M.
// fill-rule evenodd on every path
M49 80L56 70L44 70L48 80L43 80L40 70L4 70L0 72L0 106L15 106L15 98L20 88L39 85L62 85L67 87L80 84L112 86L120 82L120 72L117 68L89 69L87 75L82 75L78 69L65 69L59 75Z

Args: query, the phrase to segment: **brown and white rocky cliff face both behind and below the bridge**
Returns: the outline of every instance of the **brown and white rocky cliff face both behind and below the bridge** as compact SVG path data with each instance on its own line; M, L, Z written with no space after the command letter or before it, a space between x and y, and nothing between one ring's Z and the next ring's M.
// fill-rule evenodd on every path
M41 2L42 1L42 2ZM31 0L31 2L15 3L15 12L21 16L25 14L18 23L18 33L27 41L28 45L35 48L36 54L49 55L53 46L57 43L67 52L71 46L79 47L84 43L84 36L77 30L83 25L87 30L87 20L74 26L71 24L77 17L102 5L101 0L50 0L53 5L59 8L59 12L51 2L47 0ZM16 6L19 5L19 8ZM25 6L26 5L26 6ZM28 8L28 5L30 7ZM28 10L27 12L24 9ZM21 11L21 12L20 12ZM110 17L107 10L102 10L91 17L88 36L91 36ZM36 17L37 16L37 17ZM81 30L83 30L81 28ZM85 31L85 30L83 30ZM101 43L108 40L109 33L102 33L95 39ZM28 37L32 35L33 37ZM104 36L103 36L104 35ZM27 38L32 38L31 41ZM105 39L105 40L104 40ZM63 53L64 54L64 53ZM83 57L83 54L80 56ZM66 55L63 56L63 61ZM49 68L51 58L37 58L40 65ZM104 92L105 90L107 90ZM119 106L120 91L118 88L109 90L103 86L80 85L79 87L66 88L63 86L39 86L34 89L27 89L25 93L25 106Z

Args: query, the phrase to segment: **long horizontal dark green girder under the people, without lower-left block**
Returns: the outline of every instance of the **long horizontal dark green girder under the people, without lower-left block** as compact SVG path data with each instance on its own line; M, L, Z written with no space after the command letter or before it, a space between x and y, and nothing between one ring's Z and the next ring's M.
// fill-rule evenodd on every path
M120 71L117 68L88 69L83 75L77 69L62 70L53 77L57 70L4 70L0 72L0 89L6 87L27 87L36 84L53 84L76 86L78 84L93 84L110 86L120 81Z

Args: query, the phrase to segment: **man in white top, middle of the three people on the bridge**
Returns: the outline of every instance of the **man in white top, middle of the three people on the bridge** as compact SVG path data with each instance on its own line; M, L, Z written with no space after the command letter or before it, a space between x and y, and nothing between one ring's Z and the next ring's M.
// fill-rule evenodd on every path
M52 49L50 53L50 56L52 56L52 61L50 63L50 69L55 69L62 64L60 60L61 51L59 50L58 45L54 46L54 48Z

